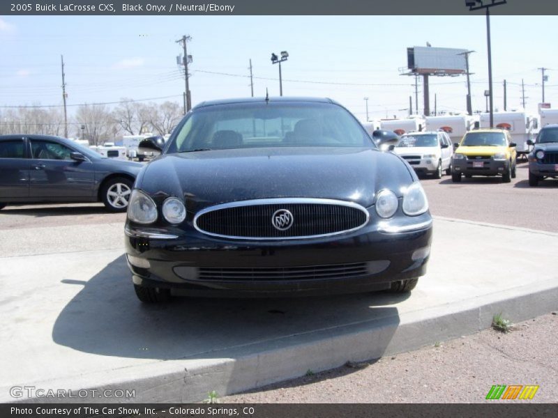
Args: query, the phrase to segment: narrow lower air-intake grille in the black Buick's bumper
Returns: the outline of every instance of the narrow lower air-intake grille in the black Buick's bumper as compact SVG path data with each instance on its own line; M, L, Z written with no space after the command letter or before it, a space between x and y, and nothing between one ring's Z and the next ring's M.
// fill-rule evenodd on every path
M366 263L305 265L300 267L199 268L199 280L266 281L339 279L368 274Z

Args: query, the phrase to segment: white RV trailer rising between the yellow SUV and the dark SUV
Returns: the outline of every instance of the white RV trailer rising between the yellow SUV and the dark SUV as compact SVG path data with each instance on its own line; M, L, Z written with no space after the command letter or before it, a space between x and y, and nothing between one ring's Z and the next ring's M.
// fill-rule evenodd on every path
M490 127L490 114L481 114L481 128ZM527 157L532 148L527 141L534 139L538 132L538 118L525 111L495 111L494 127L506 129L511 134L511 140L517 144L518 157Z

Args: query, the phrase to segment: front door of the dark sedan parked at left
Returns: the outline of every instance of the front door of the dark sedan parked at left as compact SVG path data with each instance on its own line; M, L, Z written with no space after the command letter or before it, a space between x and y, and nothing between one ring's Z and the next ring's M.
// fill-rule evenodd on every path
M30 139L29 196L45 201L89 200L95 171L91 161L75 161L73 148L52 139Z

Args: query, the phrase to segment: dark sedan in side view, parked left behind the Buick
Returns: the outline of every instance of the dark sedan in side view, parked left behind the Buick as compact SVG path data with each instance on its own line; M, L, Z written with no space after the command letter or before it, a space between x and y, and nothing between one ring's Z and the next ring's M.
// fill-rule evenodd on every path
M102 157L59 137L0 136L0 209L22 203L105 203L111 212L128 207L143 164Z

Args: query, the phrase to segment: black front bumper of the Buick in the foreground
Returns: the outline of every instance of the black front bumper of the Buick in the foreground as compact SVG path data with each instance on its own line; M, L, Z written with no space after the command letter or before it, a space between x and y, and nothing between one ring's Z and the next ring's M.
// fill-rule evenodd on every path
M392 281L425 274L432 219L428 213L407 218L405 224L369 222L352 233L296 242L223 240L189 227L179 232L128 222L127 261L135 284L170 288L181 295L258 297L382 290Z

